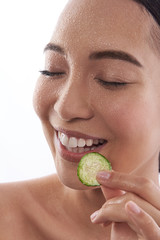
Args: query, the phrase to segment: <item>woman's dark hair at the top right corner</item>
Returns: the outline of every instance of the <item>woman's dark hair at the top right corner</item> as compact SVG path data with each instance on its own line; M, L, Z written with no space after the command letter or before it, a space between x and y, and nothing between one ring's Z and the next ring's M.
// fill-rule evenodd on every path
M158 23L160 29L160 0L133 0L133 1L141 4L147 10L147 12ZM159 154L159 172L160 172L160 154Z

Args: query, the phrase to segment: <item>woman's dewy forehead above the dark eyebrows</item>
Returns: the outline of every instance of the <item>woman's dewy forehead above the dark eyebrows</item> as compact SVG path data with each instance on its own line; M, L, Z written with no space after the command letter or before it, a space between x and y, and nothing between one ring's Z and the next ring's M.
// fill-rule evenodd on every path
M148 34L148 18L132 0L71 0L51 42L67 51L114 48L138 54L147 45Z

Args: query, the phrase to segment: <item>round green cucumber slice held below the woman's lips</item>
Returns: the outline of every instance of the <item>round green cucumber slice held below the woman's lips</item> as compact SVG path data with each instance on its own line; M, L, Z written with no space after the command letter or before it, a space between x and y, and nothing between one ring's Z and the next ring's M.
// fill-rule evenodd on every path
M77 176L79 180L86 186L99 186L96 175L99 171L111 170L110 162L97 152L85 154L77 168Z

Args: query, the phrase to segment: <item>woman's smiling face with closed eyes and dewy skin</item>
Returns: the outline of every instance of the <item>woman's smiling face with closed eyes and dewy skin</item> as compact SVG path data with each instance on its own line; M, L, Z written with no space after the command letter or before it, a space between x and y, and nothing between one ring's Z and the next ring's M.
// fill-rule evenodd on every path
M91 151L114 170L155 174L160 68L151 26L129 0L72 0L62 13L45 48L34 107L67 186L85 188L76 169Z

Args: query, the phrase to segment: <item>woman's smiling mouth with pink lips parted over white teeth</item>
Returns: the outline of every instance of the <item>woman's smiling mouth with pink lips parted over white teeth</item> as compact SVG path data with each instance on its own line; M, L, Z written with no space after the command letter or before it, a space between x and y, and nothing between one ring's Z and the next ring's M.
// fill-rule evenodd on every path
M62 158L71 162L79 162L84 154L99 152L107 143L105 139L87 136L66 130L56 131L56 144Z

